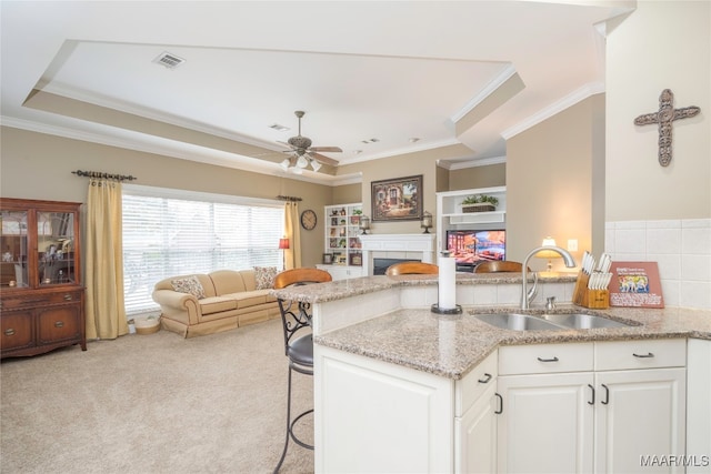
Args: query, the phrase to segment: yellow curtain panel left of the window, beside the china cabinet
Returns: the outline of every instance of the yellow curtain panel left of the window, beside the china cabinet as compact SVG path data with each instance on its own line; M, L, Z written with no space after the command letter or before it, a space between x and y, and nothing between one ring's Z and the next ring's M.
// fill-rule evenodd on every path
M87 200L87 339L128 334L123 305L121 183L91 179Z

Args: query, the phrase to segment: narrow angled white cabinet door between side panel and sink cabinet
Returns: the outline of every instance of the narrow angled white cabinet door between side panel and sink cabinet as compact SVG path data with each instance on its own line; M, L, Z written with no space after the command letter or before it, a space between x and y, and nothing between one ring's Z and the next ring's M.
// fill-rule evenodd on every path
M462 417L454 420L454 472L497 472L499 400L492 384Z

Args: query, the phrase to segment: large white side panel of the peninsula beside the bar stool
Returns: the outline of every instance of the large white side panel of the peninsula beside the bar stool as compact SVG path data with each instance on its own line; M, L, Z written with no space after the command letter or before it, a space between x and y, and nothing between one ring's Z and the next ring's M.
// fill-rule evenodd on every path
M453 381L314 346L317 473L453 471Z

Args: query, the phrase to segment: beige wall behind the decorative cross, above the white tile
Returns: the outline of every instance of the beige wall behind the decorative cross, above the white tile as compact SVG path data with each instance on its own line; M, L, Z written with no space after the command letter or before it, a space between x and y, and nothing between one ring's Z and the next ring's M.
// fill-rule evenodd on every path
M638 1L607 42L607 220L710 218L711 3ZM659 110L663 89L675 108L701 108L673 122L667 168L657 125L633 124Z

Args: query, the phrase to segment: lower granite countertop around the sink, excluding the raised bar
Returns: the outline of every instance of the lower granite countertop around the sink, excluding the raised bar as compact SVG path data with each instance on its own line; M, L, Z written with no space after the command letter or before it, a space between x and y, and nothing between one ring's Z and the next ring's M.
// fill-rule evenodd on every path
M515 311L515 306L469 309L440 315L429 309L398 310L341 330L314 336L328 347L429 372L462 379L500 345L640 339L697 337L711 340L711 311L680 307L588 310L559 305L554 312L603 314L638 324L615 329L511 331L491 326L471 313ZM531 313L535 313L533 310ZM542 310L538 312L542 313Z

